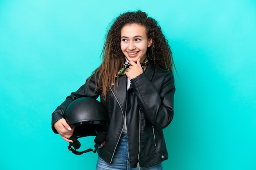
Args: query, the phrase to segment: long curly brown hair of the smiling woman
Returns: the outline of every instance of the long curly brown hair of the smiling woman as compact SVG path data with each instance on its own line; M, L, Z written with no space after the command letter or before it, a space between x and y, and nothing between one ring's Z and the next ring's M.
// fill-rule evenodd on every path
M118 70L123 67L125 62L125 55L121 51L120 42L121 29L127 24L140 24L146 28L148 38L153 40L152 45L147 49L148 56L157 67L173 72L174 63L171 48L157 21L140 10L122 13L108 30L102 51L103 61L99 68L92 73L92 75L95 74L99 78L97 83L96 76L94 77L96 86L99 86L102 90L101 98L103 100L106 100L106 94L112 83L115 82Z

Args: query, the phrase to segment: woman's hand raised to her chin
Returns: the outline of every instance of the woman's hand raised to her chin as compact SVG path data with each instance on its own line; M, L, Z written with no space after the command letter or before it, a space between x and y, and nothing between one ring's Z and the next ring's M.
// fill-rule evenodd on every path
M131 80L143 73L143 70L140 65L140 59L137 60L137 63L129 61L130 67L126 70L126 76Z

